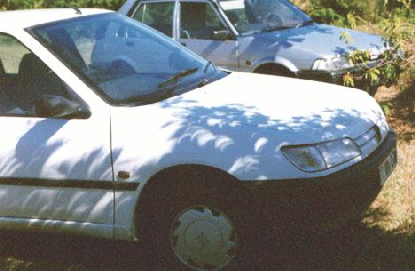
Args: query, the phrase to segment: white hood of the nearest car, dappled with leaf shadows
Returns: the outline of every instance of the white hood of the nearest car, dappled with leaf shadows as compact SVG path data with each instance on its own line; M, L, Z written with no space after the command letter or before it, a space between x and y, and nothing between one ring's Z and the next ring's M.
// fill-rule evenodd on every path
M159 106L170 108L181 121L278 131L278 138L290 144L356 138L382 116L376 101L360 90L248 73L231 73Z

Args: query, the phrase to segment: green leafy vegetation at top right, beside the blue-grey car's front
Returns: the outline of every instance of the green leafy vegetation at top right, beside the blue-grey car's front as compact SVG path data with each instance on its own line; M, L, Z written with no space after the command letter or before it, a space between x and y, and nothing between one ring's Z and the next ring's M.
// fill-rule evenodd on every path
M345 28L364 29L385 36L389 49L375 66L370 65L368 51L348 54L348 62L361 68L362 75L347 74L344 84L354 86L356 80L368 85L400 85L401 91L413 88L415 70L413 53L408 44L415 37L415 8L411 0L309 0L294 1L300 4L318 22L335 24ZM340 38L353 44L348 32ZM367 91L370 91L371 87Z

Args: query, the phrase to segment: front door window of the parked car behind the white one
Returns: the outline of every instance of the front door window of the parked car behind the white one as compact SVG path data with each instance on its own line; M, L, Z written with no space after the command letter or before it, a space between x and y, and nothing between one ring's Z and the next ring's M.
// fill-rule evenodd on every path
M180 37L184 39L214 39L214 32L227 31L210 4L182 2Z

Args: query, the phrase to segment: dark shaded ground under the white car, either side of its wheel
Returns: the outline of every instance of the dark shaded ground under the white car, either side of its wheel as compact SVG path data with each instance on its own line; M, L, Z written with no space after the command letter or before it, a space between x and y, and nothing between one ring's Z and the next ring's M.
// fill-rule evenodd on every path
M385 210L367 211L372 219L386 215ZM4 271L153 270L133 243L33 233L3 232L0 237L0 270ZM254 270L411 270L414 237L356 222L329 235L286 245L282 252L276 249L278 243L258 248L262 257L254 259Z

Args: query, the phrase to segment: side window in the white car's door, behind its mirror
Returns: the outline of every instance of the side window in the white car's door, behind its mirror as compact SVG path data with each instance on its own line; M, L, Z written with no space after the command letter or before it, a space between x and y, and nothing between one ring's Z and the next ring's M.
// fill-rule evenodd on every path
M63 82L12 36L0 33L0 116L35 116L43 95L70 100Z

